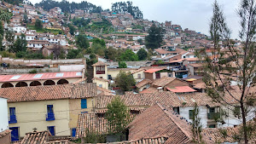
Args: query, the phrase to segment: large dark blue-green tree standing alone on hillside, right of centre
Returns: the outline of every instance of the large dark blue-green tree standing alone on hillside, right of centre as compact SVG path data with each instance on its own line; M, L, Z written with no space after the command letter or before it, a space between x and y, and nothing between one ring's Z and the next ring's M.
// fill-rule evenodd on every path
M148 36L145 37L145 45L147 49L157 49L160 48L163 42L164 30L158 26L151 26L148 30Z

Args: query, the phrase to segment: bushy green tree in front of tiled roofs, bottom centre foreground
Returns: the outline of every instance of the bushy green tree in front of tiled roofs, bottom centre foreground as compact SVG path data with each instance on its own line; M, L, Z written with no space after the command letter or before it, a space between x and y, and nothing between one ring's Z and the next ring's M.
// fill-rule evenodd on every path
M130 122L128 107L125 106L119 96L115 96L111 103L108 103L107 108L106 118L110 125L109 132L121 134Z

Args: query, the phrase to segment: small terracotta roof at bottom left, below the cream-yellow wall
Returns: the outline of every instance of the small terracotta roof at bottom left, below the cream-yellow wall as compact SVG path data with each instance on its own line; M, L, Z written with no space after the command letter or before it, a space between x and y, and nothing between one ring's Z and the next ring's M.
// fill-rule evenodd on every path
M31 132L26 133L25 137L22 139L20 144L27 144L27 143L45 143L49 141L49 131L40 131L40 132Z

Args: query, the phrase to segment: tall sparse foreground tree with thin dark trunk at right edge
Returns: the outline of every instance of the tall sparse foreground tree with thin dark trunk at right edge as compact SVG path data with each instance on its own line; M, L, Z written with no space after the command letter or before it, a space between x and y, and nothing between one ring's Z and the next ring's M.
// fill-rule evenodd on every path
M212 58L207 56L206 50L197 54L204 60L204 82L207 86L207 94L213 101L218 101L223 107L241 110L242 132L241 141L248 143L251 129L247 127L247 112L253 107L253 87L256 83L256 4L254 0L241 0L238 14L241 19L241 48L234 46L230 40L230 29L228 28L223 10L215 1L213 4L213 15L210 24L210 33L213 40ZM219 42L224 43L224 49ZM237 90L230 90L231 82L236 82ZM228 101L228 97L233 102ZM233 103L239 105L234 105ZM229 117L229 116L228 116Z

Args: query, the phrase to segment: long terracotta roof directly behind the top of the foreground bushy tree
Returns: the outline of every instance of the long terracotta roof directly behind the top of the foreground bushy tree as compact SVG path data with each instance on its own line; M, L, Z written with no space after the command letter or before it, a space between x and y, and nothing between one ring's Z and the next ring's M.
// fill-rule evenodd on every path
M173 97L177 97L177 95L171 91L163 91L150 94L126 94L119 96L121 100L125 102L127 107L150 107L154 105L155 102L159 102L166 107L171 107L175 102ZM97 96L96 108L107 108L108 103L110 103L113 98L114 96ZM178 99L176 98L175 100Z

